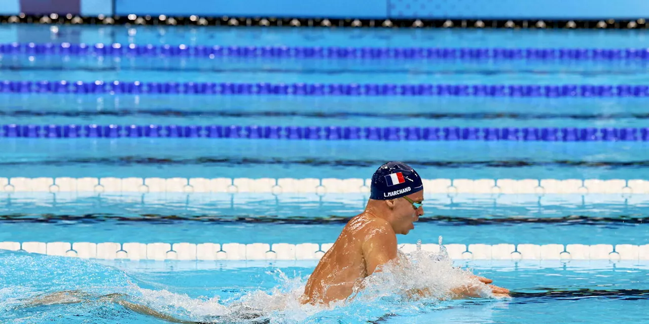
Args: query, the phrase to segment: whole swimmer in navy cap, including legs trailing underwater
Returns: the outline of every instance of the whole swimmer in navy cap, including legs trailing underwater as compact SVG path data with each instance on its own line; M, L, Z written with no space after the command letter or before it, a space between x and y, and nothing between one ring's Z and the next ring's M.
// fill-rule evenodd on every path
M354 216L337 238L334 246L324 253L322 259L310 275L302 304L329 304L345 300L354 291L363 287L363 279L380 272L388 262L397 261L397 234L406 235L414 228L413 223L424 214L422 202L424 192L421 178L413 168L400 162L382 165L372 177L371 193L365 211ZM474 276L482 284L467 284L450 291L455 298L482 297L485 284L493 295L504 297L509 290L491 285L491 280ZM411 297L425 297L426 289L409 290ZM88 303L110 301L133 312L164 319L171 323L227 323L232 318L248 319L252 323L267 323L260 310L247 305L230 305L233 313L209 321L197 322L173 318L149 308L130 302L127 295L108 294L92 296L83 292L66 291L38 296L27 305L56 305L67 303Z

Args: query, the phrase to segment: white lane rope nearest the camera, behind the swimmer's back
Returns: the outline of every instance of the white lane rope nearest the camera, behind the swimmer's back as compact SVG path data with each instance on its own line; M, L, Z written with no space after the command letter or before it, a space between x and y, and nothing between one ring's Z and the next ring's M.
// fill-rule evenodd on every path
M0 242L0 249L82 259L129 260L317 260L333 246L302 243ZM649 260L649 244L445 244L454 260ZM400 244L410 253L416 244ZM437 252L439 245L422 244Z

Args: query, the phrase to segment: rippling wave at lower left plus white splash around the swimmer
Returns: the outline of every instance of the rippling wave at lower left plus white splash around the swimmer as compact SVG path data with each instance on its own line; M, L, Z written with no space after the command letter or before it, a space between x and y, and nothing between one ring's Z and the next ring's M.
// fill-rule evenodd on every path
M53 259L55 262L51 262ZM459 286L476 285L484 297L491 296L484 284L469 276L470 272L454 267L445 251L401 254L398 262L367 277L365 288L349 299L315 306L300 303L308 277L278 269L269 272L278 283L270 289L195 298L144 288L151 283L138 283L127 272L86 260L3 253L0 263L0 283L4 287L0 299L6 301L0 305L0 319L12 323L62 318L74 322L93 318L95 323L95 319L106 323L117 318L153 320L121 307L114 303L116 299L145 305L183 321L335 323L336 318L345 318L348 323L362 323L371 318L407 316L445 307L448 302L442 300L450 299L450 290ZM414 297L413 290L428 290L430 295ZM62 291L66 293L59 294Z

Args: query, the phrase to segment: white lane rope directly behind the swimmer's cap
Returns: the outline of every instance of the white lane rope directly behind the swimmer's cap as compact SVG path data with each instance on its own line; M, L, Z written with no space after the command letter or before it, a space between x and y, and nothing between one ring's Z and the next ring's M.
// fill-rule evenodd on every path
M422 179L426 194L649 194L644 179ZM0 192L368 193L371 179L351 178L0 178Z

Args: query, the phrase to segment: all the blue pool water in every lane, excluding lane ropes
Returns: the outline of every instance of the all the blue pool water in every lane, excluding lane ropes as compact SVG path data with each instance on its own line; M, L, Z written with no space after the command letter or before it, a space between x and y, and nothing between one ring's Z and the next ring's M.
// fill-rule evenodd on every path
M646 30L287 29L2 25L0 43L290 47L649 47ZM334 84L649 84L646 60L318 60L2 54L0 81ZM2 124L643 128L641 97L300 97L0 93ZM646 179L643 141L289 141L7 138L0 178L369 178L401 160L422 178ZM646 194L432 194L398 242L649 244ZM4 192L0 242L317 243L336 240L363 194ZM0 250L2 323L165 323L100 297L219 323L643 323L646 260L472 260L513 298L406 299L466 281L449 260L378 276L347 305L301 307L317 264L82 260ZM435 259L437 260L437 259ZM459 280L459 281L458 281ZM43 294L84 303L30 306ZM245 307L244 307L245 306ZM252 308L252 316L250 310ZM260 310L261 309L261 310Z

